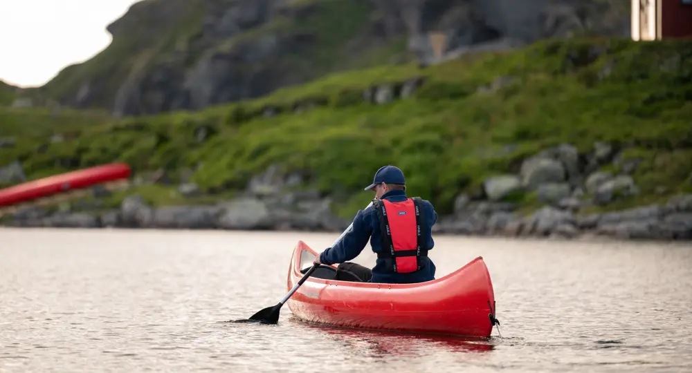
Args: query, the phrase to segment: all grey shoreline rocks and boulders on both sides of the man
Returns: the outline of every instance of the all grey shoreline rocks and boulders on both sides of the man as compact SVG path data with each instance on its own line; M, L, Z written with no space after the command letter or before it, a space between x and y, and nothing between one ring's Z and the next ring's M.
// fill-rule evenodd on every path
M628 149L623 144L598 142L589 153L579 153L571 144L560 144L529 155L516 165L516 174L495 175L476 190L457 196L453 213L440 216L433 229L435 233L471 236L692 240L692 193L680 193L659 204L589 213L599 210L592 207L641 195L632 175L644 160L628 155ZM15 168L21 171L21 166ZM1 218L0 224L330 232L348 227L350 219L332 213L333 196L310 189L300 173L281 169L277 164L270 166L251 178L235 198L212 205L151 207L140 195L131 194L119 208L105 209L100 198L108 197L109 192L96 187L89 205L78 201L58 211L26 207ZM134 184L172 186L163 171L154 172L149 180L142 178L136 177ZM664 186L656 189L666 193ZM181 180L178 190L189 197L202 194L190 180ZM536 206L533 213L522 213L521 207L531 200Z

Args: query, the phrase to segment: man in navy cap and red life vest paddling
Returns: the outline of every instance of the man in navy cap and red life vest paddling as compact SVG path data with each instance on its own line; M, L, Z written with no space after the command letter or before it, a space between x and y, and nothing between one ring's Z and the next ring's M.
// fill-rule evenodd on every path
M375 192L373 205L356 213L352 228L322 251L315 264L340 263L336 280L399 284L434 280L435 264L428 258L435 245L431 229L437 222L432 204L408 198L403 172L392 165L377 170L365 190ZM347 262L361 254L368 238L377 254L372 270Z

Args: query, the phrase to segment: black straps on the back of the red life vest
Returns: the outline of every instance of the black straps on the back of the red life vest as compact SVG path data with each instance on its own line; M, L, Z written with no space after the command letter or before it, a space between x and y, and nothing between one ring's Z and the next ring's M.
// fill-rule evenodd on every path
M417 268L420 271L421 256L428 256L428 250L425 249L426 245L423 237L423 227L425 222L425 212L423 209L423 203L421 198L414 197L411 198L416 210L416 230L417 230L417 248L415 250L403 250L394 251L394 243L392 242L392 230L390 229L389 219L387 218L387 209L385 209L385 204L382 200L375 198L372 200L372 205L377 213L377 218L380 222L380 231L382 237L382 252L377 254L377 258L385 260L385 266L390 271L397 272L397 260L395 258L401 258L403 256L416 256L417 257Z

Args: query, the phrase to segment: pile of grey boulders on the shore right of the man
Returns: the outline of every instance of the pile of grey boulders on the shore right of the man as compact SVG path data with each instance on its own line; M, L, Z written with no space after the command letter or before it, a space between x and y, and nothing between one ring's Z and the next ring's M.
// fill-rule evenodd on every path
M482 185L482 198L459 195L452 216L440 219L435 231L500 236L575 238L584 234L622 239L692 239L692 195L677 195L666 204L622 211L588 213L611 202L636 198L639 188L630 175L637 162L621 162L612 144L597 142L581 154L561 144L523 160L518 175L498 175ZM614 166L617 173L599 168ZM528 216L510 193L524 193L539 208Z

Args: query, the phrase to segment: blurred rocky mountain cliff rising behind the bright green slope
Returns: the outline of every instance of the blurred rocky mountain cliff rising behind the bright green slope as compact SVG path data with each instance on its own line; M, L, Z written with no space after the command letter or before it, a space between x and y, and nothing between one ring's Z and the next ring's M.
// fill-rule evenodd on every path
M338 70L435 60L573 32L626 36L626 0L144 0L113 42L42 87L61 104L116 115L259 97Z

